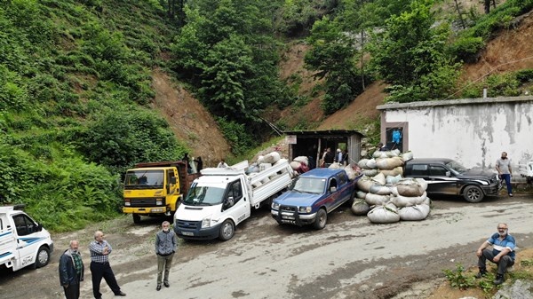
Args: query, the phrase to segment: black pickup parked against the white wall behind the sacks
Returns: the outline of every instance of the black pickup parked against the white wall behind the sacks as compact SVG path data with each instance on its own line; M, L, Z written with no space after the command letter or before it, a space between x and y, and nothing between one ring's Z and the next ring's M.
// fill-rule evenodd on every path
M428 195L462 195L468 202L480 202L485 195L497 195L501 184L495 172L466 169L457 161L446 158L407 161L403 177L424 178Z

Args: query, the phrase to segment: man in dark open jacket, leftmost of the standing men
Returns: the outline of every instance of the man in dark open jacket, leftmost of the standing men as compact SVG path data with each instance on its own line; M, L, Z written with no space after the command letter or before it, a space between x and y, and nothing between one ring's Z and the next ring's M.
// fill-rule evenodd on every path
M80 297L80 281L84 281L84 261L78 246L77 240L71 240L70 247L60 256L60 283L67 299Z

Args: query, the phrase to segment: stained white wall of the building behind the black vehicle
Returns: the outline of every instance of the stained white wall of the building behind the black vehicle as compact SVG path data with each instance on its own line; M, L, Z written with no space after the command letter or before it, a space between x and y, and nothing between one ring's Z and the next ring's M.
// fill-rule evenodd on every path
M505 151L514 173L533 161L533 97L473 98L378 106L381 133L402 127L415 158L446 157L494 169Z

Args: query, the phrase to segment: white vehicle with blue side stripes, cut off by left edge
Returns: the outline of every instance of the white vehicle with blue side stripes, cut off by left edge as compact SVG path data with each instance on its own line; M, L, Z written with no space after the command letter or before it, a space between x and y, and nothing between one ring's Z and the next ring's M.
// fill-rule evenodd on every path
M12 271L44 267L53 251L50 232L20 208L0 207L0 267Z

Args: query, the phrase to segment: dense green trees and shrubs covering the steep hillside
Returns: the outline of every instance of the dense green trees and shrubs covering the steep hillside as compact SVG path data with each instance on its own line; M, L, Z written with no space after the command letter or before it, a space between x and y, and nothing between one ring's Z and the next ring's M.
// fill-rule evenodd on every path
M25 203L52 231L115 216L124 169L189 151L149 106L156 68L209 109L235 155L269 137L267 107L298 101L279 77L291 40L311 47L325 114L376 80L389 101L457 98L459 67L533 8L486 3L480 13L457 0L3 0L0 203ZM460 96L486 84L489 96L518 95L532 80L530 69L490 76Z

